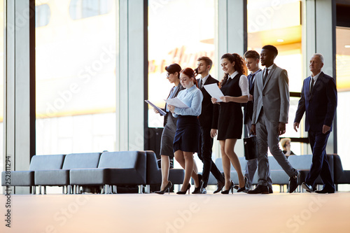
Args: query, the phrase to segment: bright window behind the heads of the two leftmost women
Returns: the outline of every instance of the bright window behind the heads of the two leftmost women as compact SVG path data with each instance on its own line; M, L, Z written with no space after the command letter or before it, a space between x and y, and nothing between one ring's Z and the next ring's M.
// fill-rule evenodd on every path
M208 56L214 66L214 0L148 1L148 99L163 108L170 89L165 66L197 67ZM205 15L205 17L200 17ZM211 69L211 75L218 78ZM163 127L159 114L148 111L148 127Z

